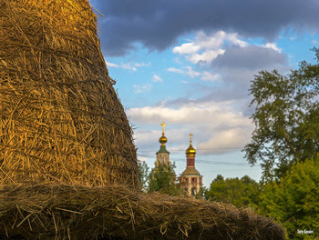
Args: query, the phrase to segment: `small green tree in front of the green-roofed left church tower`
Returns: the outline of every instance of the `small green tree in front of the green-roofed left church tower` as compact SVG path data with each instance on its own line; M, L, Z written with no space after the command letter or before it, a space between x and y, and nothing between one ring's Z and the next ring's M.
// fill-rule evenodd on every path
M149 193L160 192L167 195L182 195L180 185L175 183L175 165L158 165L149 174Z

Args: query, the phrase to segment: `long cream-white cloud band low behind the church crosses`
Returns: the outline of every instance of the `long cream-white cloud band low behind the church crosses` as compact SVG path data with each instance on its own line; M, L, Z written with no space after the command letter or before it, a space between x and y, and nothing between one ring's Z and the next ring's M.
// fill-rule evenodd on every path
M134 125L160 125L165 121L167 137L170 135L171 147L185 145L185 139L192 132L196 136L199 149L206 149L202 154L221 154L238 151L250 140L253 129L249 117L236 111L233 102L191 103L180 108L169 106L144 106L130 108L127 114ZM170 129L170 130L169 130ZM156 145L160 130L136 131L138 145ZM219 148L219 149L217 149ZM217 150L216 150L217 149Z

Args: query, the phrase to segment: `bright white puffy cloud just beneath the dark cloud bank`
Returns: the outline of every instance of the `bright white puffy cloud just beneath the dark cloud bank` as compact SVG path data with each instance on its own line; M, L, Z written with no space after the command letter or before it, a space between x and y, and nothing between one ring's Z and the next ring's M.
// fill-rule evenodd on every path
M173 53L184 55L185 58L193 64L209 64L218 55L224 54L225 50L223 46L226 43L239 45L241 47L247 45L247 43L240 40L235 33L227 34L223 31L218 31L214 35L206 35L203 31L200 31L192 42L175 46Z

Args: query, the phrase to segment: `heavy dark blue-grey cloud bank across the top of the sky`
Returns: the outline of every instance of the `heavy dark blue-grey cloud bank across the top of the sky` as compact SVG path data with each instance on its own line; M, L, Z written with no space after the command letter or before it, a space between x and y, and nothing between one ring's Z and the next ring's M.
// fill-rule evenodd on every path
M318 32L317 0L93 0L103 51L124 55L135 43L163 50L190 31L232 31L273 39L283 27Z

